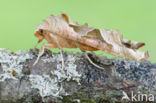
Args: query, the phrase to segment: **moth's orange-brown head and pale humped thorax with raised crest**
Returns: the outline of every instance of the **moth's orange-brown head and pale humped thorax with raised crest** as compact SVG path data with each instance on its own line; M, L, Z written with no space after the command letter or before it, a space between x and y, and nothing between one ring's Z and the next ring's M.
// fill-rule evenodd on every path
M70 19L65 13L61 13L59 16L51 15L37 25L34 35L39 39L43 39L49 32L55 33L67 27L69 22Z

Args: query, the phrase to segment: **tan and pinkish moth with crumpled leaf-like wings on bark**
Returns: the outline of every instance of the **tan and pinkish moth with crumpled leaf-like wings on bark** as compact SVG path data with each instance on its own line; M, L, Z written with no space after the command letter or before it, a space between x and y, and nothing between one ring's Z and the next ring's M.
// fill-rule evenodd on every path
M35 47L46 39L47 43L40 48L36 64L44 53L44 48L80 48L82 51L102 50L112 55L132 60L143 60L149 57L148 51L138 50L145 43L124 39L117 30L98 29L88 26L87 23L79 25L72 22L66 13L58 16L51 15L39 23L34 35L39 39ZM86 55L88 60L94 64ZM98 66L94 64L95 66ZM64 60L62 56L62 66ZM100 68L100 67L99 67Z

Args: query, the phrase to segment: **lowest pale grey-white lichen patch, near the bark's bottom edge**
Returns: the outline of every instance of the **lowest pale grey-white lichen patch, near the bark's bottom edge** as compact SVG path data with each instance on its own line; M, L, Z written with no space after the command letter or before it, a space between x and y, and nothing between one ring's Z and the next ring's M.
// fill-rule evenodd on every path
M55 78L51 79L49 75L30 75L32 88L39 90L42 97L55 96L59 97L60 87Z

